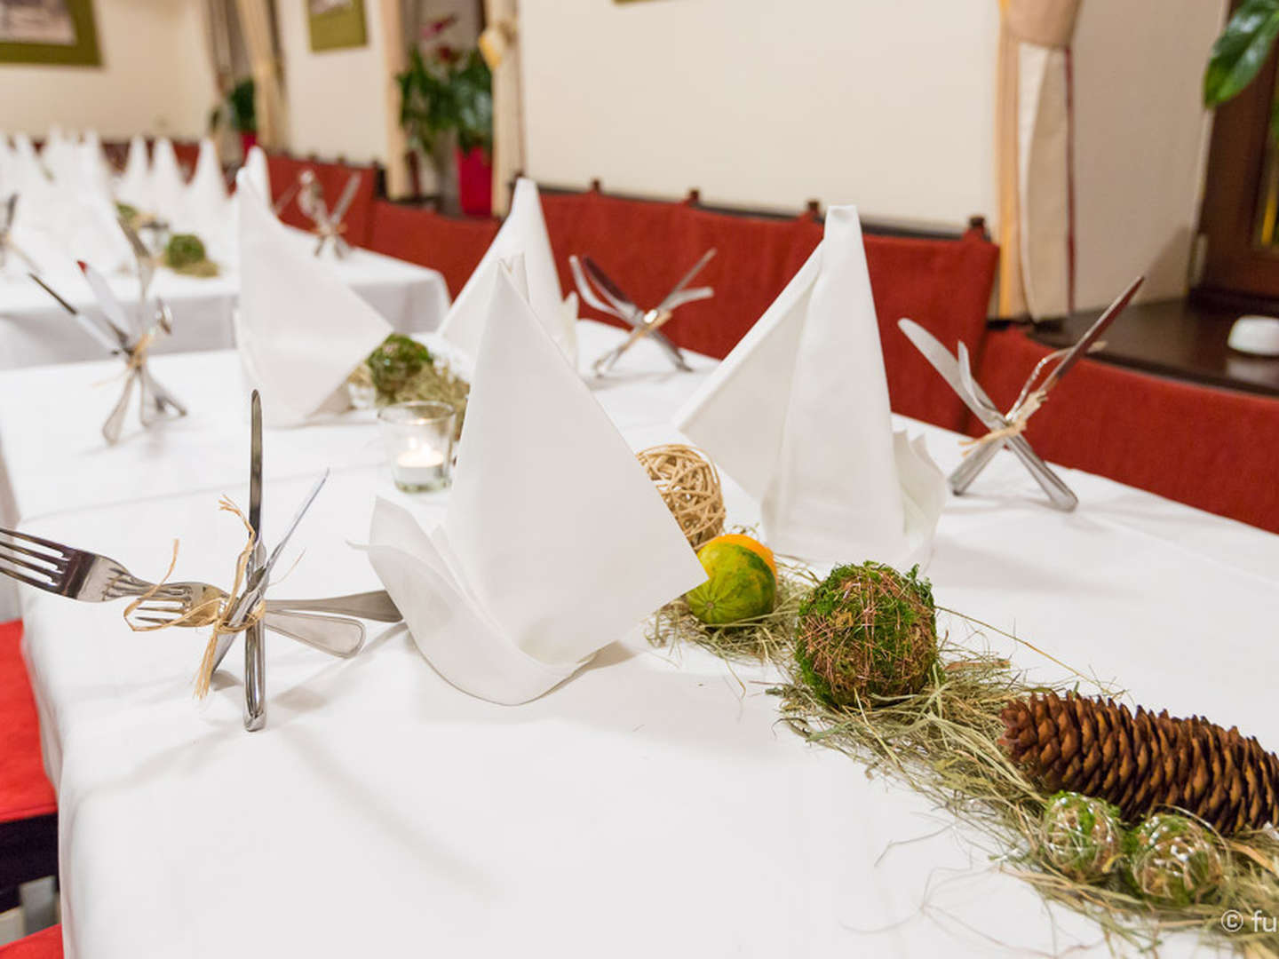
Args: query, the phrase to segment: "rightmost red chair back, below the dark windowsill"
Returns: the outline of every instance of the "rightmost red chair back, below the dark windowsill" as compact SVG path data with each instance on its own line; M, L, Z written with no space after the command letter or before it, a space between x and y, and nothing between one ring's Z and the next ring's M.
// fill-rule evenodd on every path
M991 332L978 378L1007 409L1049 353L1017 329ZM984 432L975 419L968 432ZM1049 460L1279 532L1279 400L1085 359L1026 439Z

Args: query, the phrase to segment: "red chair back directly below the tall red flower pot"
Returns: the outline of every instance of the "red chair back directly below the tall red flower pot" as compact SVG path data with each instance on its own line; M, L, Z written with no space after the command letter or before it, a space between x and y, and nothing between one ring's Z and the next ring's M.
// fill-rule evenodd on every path
M427 207L373 201L370 249L439 270L457 297L498 235L498 220L441 216Z

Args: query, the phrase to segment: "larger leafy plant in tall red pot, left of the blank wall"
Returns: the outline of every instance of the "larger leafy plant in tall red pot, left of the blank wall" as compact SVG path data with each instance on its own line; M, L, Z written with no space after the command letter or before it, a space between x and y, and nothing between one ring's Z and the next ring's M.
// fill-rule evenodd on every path
M423 32L435 36L453 18ZM492 212L492 74L478 50L458 52L439 45L431 54L409 50L408 68L396 74L400 125L409 144L432 159L441 185L453 153L458 201L469 216ZM451 150L449 148L451 146Z

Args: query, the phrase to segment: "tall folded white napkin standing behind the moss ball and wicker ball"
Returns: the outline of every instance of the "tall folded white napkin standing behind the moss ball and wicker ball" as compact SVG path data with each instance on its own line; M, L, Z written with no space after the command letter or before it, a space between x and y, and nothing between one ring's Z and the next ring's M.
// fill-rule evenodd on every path
M778 552L926 563L945 480L894 437L856 207L680 410L683 432L761 501Z

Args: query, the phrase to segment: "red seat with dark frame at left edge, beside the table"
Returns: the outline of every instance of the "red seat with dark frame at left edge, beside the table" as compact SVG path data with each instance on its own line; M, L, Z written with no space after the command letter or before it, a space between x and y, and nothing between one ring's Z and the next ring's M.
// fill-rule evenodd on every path
M20 642L22 623L0 624L0 890L58 872L58 797Z

